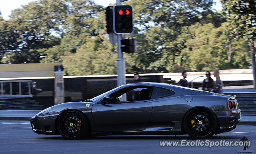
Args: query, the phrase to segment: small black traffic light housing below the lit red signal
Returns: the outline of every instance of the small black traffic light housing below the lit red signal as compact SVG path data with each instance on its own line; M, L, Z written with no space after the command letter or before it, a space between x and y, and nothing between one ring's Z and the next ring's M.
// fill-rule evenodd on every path
M126 52L126 53L137 52L136 39L134 38L121 39L121 44L122 44L121 46L122 52Z

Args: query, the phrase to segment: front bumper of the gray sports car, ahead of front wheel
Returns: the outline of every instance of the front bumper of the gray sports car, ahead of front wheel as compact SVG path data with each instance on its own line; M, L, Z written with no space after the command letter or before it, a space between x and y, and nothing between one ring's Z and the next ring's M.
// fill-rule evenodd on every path
M32 130L37 134L58 134L55 121L58 114L33 116L30 119Z

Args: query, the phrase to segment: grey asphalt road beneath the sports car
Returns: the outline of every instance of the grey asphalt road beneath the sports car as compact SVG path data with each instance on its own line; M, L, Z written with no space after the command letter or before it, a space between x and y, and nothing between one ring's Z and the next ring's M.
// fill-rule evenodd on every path
M251 146L243 150L237 147L193 147L193 146L160 146L160 141L179 141L187 135L160 136L94 136L84 140L65 140L60 135L35 134L29 121L0 120L0 153L1 154L94 154L94 153L221 153L238 154L252 152L256 154L256 126L237 126L231 132L214 135L210 141L239 141L243 136L251 141ZM201 140L201 142L204 140Z

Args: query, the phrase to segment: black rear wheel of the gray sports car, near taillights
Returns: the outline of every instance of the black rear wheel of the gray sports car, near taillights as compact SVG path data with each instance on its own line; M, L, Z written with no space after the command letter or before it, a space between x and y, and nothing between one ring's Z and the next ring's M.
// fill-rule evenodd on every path
M217 119L211 111L204 108L196 108L186 113L183 126L191 138L210 138L216 131Z

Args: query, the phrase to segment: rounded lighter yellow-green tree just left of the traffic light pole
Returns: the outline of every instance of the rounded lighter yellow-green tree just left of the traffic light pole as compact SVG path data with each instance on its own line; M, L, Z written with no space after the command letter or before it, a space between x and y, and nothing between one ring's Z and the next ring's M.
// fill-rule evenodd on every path
M76 53L61 56L66 75L116 74L117 53L106 38L86 38Z

